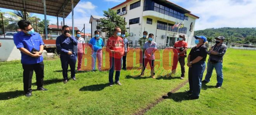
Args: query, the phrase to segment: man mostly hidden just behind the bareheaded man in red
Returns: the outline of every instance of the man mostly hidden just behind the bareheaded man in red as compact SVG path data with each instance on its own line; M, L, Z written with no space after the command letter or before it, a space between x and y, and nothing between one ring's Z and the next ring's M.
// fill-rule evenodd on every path
M123 38L124 45L125 45L125 53L123 55L123 70L126 70L126 55L129 52L129 40L125 38L125 32L121 33L121 38Z

